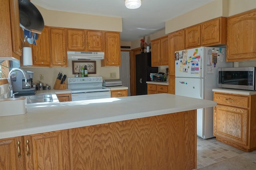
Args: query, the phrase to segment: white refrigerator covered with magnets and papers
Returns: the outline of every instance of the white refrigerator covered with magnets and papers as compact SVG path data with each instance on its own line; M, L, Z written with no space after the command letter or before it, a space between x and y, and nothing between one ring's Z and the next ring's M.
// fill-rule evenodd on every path
M217 70L232 67L226 62L226 49L198 47L175 52L175 95L213 100L217 88ZM184 103L186 105L186 103ZM197 109L197 135L203 139L213 136L213 108Z

